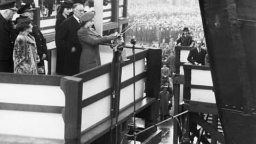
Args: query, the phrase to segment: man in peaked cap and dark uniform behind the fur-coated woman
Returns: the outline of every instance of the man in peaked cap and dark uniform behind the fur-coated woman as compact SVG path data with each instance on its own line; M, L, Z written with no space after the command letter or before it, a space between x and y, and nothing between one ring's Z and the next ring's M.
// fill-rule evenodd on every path
M28 17L31 21L33 21L34 10L35 9L29 3L21 6L17 12L18 14L20 14L20 17L17 18L16 21L22 17ZM46 55L47 55L46 39L44 38L43 34L41 33L37 25L35 25L33 22L31 22L31 24L33 25L31 35L35 37L37 54L39 55L39 58L40 58L40 62L37 63L37 67L38 68L44 67L44 60L46 60ZM39 74L45 74L45 71L39 71Z

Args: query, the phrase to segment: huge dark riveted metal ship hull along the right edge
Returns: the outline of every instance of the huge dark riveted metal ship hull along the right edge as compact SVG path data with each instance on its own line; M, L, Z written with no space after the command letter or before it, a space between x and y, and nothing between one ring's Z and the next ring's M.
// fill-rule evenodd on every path
M256 141L256 1L199 1L226 143Z

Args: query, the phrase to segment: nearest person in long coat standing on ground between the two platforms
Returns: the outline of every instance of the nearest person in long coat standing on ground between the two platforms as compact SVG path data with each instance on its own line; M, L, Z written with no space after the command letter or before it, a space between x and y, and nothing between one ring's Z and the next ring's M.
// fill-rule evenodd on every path
M167 87L167 85L163 86L163 91L159 92L158 94L161 121L165 120L167 118L167 115L170 115L169 104L171 103L171 95L167 91Z

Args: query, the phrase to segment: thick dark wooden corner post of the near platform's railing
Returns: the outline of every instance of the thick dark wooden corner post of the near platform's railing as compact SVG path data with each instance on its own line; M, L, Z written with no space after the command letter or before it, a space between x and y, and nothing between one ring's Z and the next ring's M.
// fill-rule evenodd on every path
M61 90L66 97L65 109L62 111L66 144L81 143L82 86L82 78L63 77L61 79Z

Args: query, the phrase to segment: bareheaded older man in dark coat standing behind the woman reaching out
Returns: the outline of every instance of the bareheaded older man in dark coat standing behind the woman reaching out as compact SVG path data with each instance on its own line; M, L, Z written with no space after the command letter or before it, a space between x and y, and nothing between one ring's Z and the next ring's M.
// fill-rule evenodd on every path
M59 47L64 52L64 68L63 75L75 75L79 73L79 61L82 52L82 46L77 37L77 31L80 29L82 14L84 13L84 6L80 3L76 3L72 7L73 16L61 23L58 43Z

